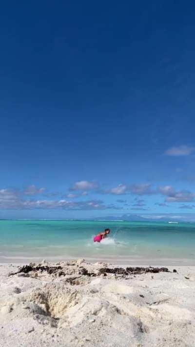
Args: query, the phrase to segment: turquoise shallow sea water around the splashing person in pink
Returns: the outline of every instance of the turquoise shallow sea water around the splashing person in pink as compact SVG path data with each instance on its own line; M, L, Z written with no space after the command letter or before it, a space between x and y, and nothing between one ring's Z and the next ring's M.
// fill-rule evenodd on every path
M93 243L109 227L109 238ZM195 265L195 224L115 221L0 221L0 263L75 258L122 264Z

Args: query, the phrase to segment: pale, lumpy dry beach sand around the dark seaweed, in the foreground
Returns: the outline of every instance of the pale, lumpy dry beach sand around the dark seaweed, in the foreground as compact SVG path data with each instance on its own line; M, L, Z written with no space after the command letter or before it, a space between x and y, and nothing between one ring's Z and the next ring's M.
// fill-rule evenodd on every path
M194 266L89 277L83 268L98 274L112 265L49 265L61 265L65 276L10 275L19 266L0 265L0 346L195 346Z

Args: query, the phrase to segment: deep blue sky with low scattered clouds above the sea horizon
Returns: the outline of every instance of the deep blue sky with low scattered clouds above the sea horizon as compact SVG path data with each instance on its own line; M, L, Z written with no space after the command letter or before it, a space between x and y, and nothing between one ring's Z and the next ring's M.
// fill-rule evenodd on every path
M195 211L195 4L0 11L0 218Z

